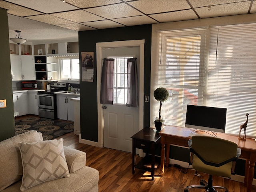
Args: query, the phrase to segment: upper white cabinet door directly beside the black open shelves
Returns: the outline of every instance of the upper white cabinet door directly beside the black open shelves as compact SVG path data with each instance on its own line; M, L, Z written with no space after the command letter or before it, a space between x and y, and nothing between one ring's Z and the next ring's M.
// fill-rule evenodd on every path
M32 55L21 56L22 80L36 80L35 65Z

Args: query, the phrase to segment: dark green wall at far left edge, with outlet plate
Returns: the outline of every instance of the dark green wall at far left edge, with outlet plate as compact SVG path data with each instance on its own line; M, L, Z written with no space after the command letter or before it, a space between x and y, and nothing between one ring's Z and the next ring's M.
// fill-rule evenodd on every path
M0 8L0 100L6 99L6 108L0 108L0 141L14 136L14 111L10 64L9 28L7 10Z

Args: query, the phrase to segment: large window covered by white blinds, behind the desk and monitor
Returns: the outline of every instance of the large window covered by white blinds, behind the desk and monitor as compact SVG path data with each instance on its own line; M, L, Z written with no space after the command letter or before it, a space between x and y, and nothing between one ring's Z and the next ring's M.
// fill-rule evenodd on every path
M256 24L159 32L158 82L168 89L161 115L184 126L187 104L227 108L226 133L256 136ZM154 101L154 116L159 102ZM153 119L154 117L151 117Z

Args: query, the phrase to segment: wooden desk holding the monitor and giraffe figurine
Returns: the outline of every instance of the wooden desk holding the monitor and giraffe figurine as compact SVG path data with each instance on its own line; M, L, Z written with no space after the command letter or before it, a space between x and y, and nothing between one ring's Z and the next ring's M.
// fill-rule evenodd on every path
M159 134L161 136L161 175L164 174L164 158L166 146L166 165L169 163L170 144L188 147L188 140L191 139L189 134L190 128L178 126L166 126ZM200 132L202 135L208 135L205 132ZM244 186L247 187L247 192L252 190L252 180L254 176L254 166L256 162L256 141L251 138L239 140L238 136L217 133L218 138L232 141L241 148L242 154L240 158L246 159Z

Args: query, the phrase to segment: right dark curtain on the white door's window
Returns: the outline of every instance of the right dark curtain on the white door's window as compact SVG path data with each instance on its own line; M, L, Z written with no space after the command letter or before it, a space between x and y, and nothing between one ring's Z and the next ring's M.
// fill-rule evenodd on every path
M128 107L138 107L138 72L137 58L127 59L127 103Z

